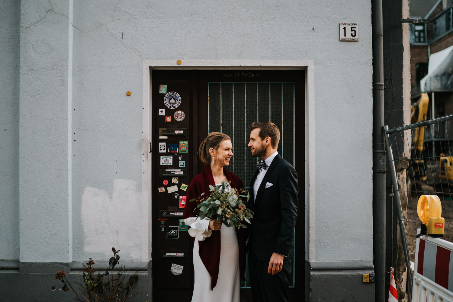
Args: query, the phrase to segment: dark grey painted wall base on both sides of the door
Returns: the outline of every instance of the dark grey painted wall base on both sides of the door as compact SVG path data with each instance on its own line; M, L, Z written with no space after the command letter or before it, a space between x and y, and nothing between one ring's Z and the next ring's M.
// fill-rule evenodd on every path
M331 265L327 266L331 267ZM371 273L371 269L322 270L323 267L319 264L314 264L313 267L321 270L310 271L310 302L375 300L375 283L363 283L363 274ZM82 271L70 271L68 264L19 264L19 270L0 269L1 301L72 301L72 298L75 297L72 291L63 292L58 289L56 291L50 289L52 285L55 287L63 285L54 278L58 270L64 270L69 281L82 282ZM125 273L130 275L134 272L126 271ZM140 288L142 290L131 301L152 301L152 283L151 278L148 278L151 276L150 273L149 269L139 271L135 290L138 291Z

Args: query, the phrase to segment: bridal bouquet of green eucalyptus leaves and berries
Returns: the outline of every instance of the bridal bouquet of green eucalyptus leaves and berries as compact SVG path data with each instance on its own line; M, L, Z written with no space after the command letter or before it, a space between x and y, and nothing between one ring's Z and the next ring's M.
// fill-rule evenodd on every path
M201 219L208 217L217 219L228 227L247 228L247 225L242 222L246 221L250 224L248 217L253 218L253 215L240 198L246 197L247 201L249 200L246 190L231 188L226 181L222 181L220 186L209 185L209 191L211 193L207 198L202 197L204 195L202 193L200 197L190 200L198 201Z

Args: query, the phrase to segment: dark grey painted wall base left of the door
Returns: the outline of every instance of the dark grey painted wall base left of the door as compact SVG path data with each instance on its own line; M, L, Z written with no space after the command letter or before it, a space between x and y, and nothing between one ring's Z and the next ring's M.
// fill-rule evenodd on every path
M61 290L52 291L50 287L53 285L55 287L63 286L61 281L55 280L55 273L58 270L65 271L67 279L70 282L82 283L82 271L72 270L68 268L68 264L34 264L33 268L43 267L43 271L37 271L36 269L29 269L30 265L25 265L24 270L0 270L0 301L1 302L17 302L17 301L27 301L27 302L61 302L61 301L74 301L72 298L75 297L74 292L69 290L68 292L63 292ZM21 264L19 267L24 268ZM45 268L47 267L47 268ZM52 270L52 272L49 272ZM68 273L69 272L69 273ZM115 271L114 271L115 272ZM127 276L135 273L135 271L125 271L126 280ZM149 272L139 271L139 278L135 284L133 293L138 292L141 288L140 293L131 299L130 301L151 301L149 298L149 293L152 288L149 276ZM77 290L76 288L74 288ZM80 296L79 296L80 297ZM82 300L82 297L80 297Z

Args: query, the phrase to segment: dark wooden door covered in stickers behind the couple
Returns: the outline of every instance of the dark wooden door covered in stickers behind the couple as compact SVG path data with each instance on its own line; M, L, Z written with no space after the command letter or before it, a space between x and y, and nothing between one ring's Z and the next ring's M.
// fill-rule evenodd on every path
M170 301L169 299L191 300L193 241L184 230L179 230L177 239L171 238L171 235L168 238L167 233L169 229L172 229L170 227L175 229L176 219L180 218L162 217L162 213L164 210L182 211L178 207L179 201L177 202L177 199L173 197L174 194L178 194L179 198L183 196L184 192L179 187L180 183L188 184L203 168L198 164L197 158L199 143L211 131L228 134L234 149L233 162L230 164L229 170L241 177L244 184L249 186L255 172L256 158L251 157L247 148L248 126L253 121L270 120L280 128L281 139L278 146L280 155L294 165L299 175L299 218L294 233L294 269L289 294L291 301L304 300L304 71L157 70L152 72L151 78L152 145L156 146L152 152L152 163L155 168L153 168L153 183L151 184L153 297L166 301ZM164 87L166 87L165 91ZM164 101L164 97L170 92L175 92L180 100L173 100L175 103L168 104L167 97L167 101ZM178 107L169 108L178 101L180 101ZM162 114L159 113L159 110L162 109L165 110L165 115L159 115ZM180 112L177 114L178 111L182 111L182 114ZM180 120L183 115L184 119ZM171 116L170 122L165 122L167 116ZM175 120L175 116L178 116L178 120ZM162 130L159 133L159 129L179 129L179 131L185 130L185 132L180 136L167 135L165 138L166 135L160 135ZM174 147L177 144L179 146L181 141L187 141L188 153L183 154L178 151L178 155L169 154L168 145L172 144ZM166 152L159 153L159 143L166 143ZM170 186L168 177L167 179L159 173L162 170L183 169L178 167L180 161L175 161L181 155L185 162L186 174L178 177L178 182L180 182L177 187L178 191L169 193L167 192L168 187L174 189L174 186ZM162 168L161 156L173 157L172 165L164 167L169 169ZM165 180L169 181L169 184L165 185ZM162 190L164 192L161 192ZM183 256L173 256L177 252L183 253ZM171 254L173 258L166 254ZM164 258L164 256L167 257ZM174 275L171 272L172 269L174 271L181 267L183 268L180 275ZM250 283L241 282L241 287L241 301L252 301Z

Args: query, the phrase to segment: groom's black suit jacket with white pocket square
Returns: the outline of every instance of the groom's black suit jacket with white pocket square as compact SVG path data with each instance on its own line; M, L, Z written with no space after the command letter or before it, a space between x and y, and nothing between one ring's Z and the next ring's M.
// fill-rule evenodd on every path
M296 170L277 154L267 168L254 200L253 184L257 175L258 169L250 186L253 220L249 248L261 261L269 261L273 252L292 257L299 193Z

